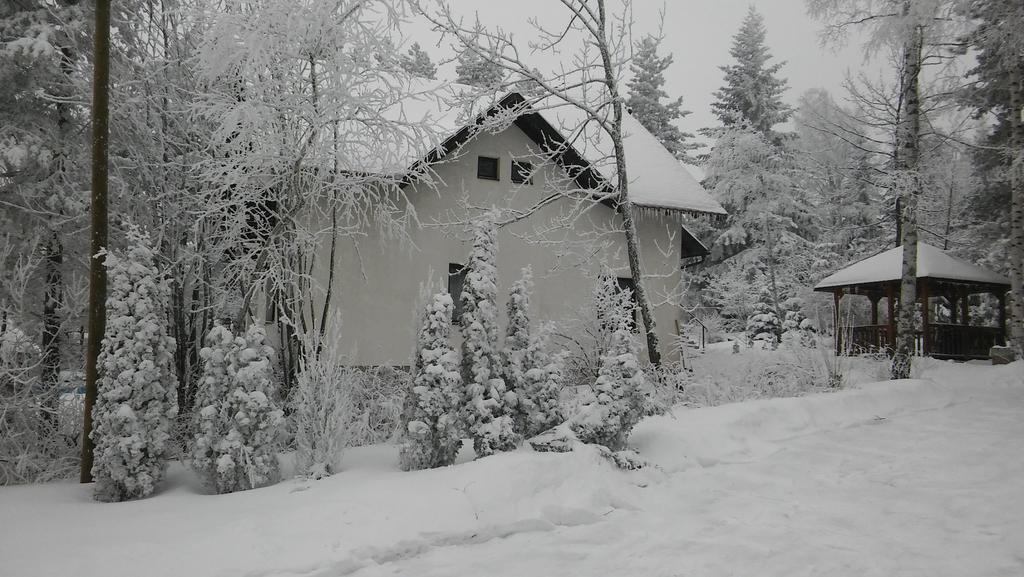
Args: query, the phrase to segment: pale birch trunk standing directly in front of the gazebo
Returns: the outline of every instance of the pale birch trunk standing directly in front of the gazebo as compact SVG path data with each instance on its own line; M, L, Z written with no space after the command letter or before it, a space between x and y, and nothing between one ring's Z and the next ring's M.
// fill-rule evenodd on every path
M921 178L918 173L921 152L921 76L922 28L915 26L910 38L903 43L903 97L905 113L896 127L896 162L894 183L900 199L900 228L903 247L903 277L900 282L899 324L893 355L892 378L909 378L910 363L916 340L914 325L918 310L918 202Z

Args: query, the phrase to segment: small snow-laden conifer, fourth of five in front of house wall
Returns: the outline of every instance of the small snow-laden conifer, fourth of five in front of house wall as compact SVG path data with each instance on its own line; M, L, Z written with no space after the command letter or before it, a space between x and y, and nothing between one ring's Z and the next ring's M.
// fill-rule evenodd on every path
M522 415L522 435L531 438L561 424L561 393L564 383L565 357L548 353L554 325L547 323L529 339L523 356L523 373L518 389L518 414Z

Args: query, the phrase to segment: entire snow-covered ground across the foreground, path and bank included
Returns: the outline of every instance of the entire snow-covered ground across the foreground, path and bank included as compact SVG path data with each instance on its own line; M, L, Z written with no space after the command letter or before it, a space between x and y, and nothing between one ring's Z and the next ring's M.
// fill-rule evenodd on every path
M633 472L528 449L400 472L381 446L222 496L180 467L137 502L0 488L0 575L1024 575L1024 363L922 364L648 419Z

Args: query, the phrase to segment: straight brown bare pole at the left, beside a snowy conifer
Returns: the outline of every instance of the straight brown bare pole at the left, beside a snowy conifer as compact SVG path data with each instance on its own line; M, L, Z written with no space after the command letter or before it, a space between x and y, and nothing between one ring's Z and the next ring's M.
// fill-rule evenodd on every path
M85 408L79 481L92 482L92 406L96 403L99 343L106 330L106 266L98 254L106 248L108 92L111 75L111 0L96 0L92 69L92 198L89 245L89 341L85 352Z

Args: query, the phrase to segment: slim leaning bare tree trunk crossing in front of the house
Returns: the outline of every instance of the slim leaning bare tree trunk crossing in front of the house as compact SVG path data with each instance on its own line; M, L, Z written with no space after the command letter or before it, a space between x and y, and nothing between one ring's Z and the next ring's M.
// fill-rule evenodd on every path
M611 54L608 52L608 42L605 38L607 26L605 19L604 0L598 0L600 16L600 34L598 45L601 50L601 63L604 68L604 83L611 97L612 122L611 141L615 151L615 169L617 170L618 200L616 206L623 217L623 228L626 234L626 252L629 256L630 274L636 291L637 305L640 307L640 318L643 319L644 331L647 336L647 358L655 367L662 365L660 344L654 325L654 315L651 312L650 299L644 288L643 271L640 266L640 244L637 235L636 220L633 218L633 204L630 202L629 179L626 175L626 152L623 147L623 99L618 95L618 84L615 71L611 66Z

